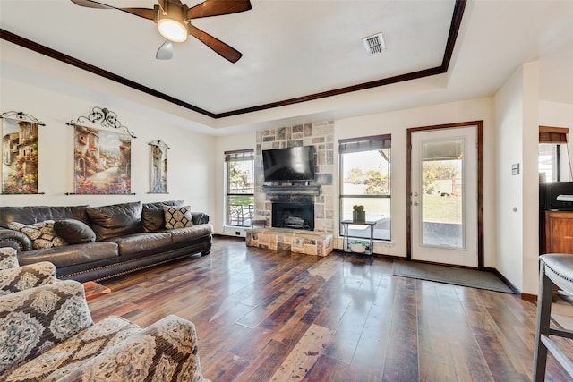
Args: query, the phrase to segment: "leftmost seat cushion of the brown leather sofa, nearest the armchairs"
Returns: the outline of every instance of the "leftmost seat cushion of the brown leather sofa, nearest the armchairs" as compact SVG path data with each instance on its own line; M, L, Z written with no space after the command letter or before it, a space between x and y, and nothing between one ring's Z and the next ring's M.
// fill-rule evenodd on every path
M49 261L56 267L70 267L102 259L114 259L117 254L115 242L90 242L43 250L26 250L20 253L19 260L21 265Z

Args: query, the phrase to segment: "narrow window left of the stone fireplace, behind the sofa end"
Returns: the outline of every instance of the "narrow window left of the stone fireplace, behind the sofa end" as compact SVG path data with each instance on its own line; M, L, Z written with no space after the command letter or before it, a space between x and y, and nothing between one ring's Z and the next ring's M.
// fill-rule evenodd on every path
M225 152L226 224L250 226L254 213L254 150Z

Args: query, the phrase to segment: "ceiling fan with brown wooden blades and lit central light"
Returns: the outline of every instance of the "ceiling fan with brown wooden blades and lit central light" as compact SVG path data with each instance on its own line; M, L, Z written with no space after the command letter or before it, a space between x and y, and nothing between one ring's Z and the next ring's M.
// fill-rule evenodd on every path
M155 55L159 60L171 59L173 57L173 43L183 42L188 35L192 35L231 63L236 63L242 54L234 47L229 47L223 41L195 27L191 21L201 17L238 13L251 9L249 0L205 0L192 8L182 4L181 0L158 0L158 4L154 5L153 9L118 8L93 0L72 0L72 3L88 8L116 9L154 21L158 24L161 36L167 39Z

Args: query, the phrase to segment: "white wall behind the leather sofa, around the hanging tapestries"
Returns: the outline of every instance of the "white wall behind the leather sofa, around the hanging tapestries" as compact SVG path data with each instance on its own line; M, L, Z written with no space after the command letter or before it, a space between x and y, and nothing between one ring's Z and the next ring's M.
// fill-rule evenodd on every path
M141 115L125 106L124 102L118 102L124 107L117 108L111 95L107 104L101 105L94 100L70 97L57 89L38 88L5 77L0 77L0 88L0 113L22 111L46 123L46 126L38 127L38 190L45 194L2 195L0 204L3 206L99 206L134 200L184 199L193 211L209 214L214 211L214 137L175 128L153 116ZM136 195L65 195L65 192L73 192L73 127L65 123L80 115L88 115L94 106L114 111L118 120L137 136L132 140L132 192ZM152 140L163 140L170 147L167 150L168 194L147 193L150 191L148 142Z

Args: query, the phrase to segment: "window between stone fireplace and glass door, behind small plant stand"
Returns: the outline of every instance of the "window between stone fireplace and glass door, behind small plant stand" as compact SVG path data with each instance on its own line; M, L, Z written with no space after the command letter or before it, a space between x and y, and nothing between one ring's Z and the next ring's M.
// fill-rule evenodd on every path
M374 239L390 240L390 135L340 140L340 219L352 220L364 206ZM365 225L350 225L349 236L370 238ZM342 230L342 227L340 228Z

